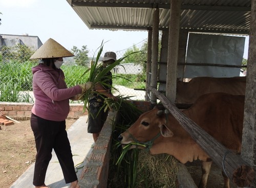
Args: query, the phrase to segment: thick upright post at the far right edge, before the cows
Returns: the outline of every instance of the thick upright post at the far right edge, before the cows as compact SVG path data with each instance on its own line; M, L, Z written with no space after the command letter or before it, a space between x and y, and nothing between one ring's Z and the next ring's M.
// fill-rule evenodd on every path
M250 38L241 156L256 168L256 2L251 1Z

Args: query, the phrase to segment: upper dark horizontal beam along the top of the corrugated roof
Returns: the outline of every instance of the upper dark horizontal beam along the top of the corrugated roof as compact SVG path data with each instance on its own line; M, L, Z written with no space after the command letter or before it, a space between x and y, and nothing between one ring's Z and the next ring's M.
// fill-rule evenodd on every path
M72 0L71 6L79 7L113 7L113 8L145 8L145 9L170 9L170 4L143 4L143 3L110 3L110 2L78 2ZM250 12L251 7L236 6L206 6L206 5L181 5L181 10L207 10L207 11L245 11Z

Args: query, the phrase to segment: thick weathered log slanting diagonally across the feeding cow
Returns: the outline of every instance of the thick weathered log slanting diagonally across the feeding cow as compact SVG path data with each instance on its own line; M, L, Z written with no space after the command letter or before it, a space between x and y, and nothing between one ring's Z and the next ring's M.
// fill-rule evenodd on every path
M205 132L195 122L190 120L173 103L171 103L162 93L150 87L151 92L162 102L163 106L177 119L180 125L190 134L195 142L210 156L212 161L219 166L224 173L236 185L240 187L252 185L255 187L254 170L236 154L227 150L215 138ZM214 145L214 148L209 147Z

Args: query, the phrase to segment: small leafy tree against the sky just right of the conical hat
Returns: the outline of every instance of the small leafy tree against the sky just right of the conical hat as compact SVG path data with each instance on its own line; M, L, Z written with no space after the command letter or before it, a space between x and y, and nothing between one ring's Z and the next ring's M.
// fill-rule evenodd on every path
M71 52L75 55L74 60L77 65L88 66L90 64L87 45L83 45L81 50L73 46Z

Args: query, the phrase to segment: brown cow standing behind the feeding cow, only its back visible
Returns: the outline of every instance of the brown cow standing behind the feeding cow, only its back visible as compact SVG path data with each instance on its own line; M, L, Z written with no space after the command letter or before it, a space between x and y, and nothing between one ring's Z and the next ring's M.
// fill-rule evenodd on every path
M246 77L195 77L189 82L177 81L176 103L194 104L200 96L211 92L245 95L245 86Z

